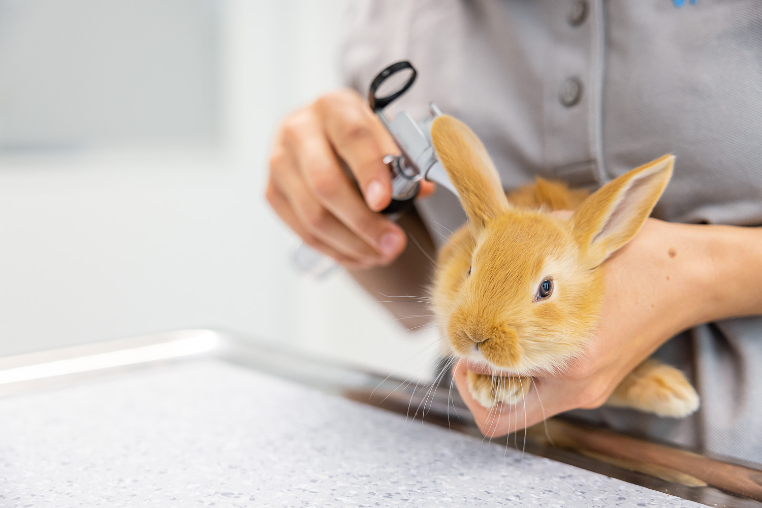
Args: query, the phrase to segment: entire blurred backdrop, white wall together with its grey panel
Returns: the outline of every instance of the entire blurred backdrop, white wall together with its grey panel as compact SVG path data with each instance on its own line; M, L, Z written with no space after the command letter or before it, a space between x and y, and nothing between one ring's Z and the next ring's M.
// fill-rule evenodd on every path
M427 377L337 270L293 270L274 130L341 85L348 0L0 0L0 356L215 327Z

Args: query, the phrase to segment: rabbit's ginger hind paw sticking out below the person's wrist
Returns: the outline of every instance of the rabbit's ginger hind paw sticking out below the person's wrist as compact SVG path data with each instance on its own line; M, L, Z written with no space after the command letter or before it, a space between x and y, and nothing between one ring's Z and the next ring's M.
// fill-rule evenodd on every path
M683 372L648 359L623 379L607 404L680 418L698 409L699 395Z

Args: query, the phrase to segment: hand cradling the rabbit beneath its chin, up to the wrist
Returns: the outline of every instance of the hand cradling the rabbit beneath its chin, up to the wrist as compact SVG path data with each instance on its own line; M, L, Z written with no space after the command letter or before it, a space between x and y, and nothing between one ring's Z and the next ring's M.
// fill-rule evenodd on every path
M703 266L706 246L696 241L696 228L705 227L648 219L604 264L600 323L584 353L564 372L534 378L517 404L482 407L469 392L466 372L491 372L456 363L453 378L482 433L502 436L564 411L599 407L662 343L702 322L701 288L711 270Z

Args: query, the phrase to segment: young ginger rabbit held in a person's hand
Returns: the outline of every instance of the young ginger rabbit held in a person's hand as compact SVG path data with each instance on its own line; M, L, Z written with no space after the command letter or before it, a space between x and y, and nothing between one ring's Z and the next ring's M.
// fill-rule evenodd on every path
M515 404L531 376L558 372L579 356L604 295L601 264L639 231L672 174L674 156L623 174L596 192L538 178L506 196L479 138L441 115L431 138L468 222L437 254L431 302L450 354L501 375L468 372L484 407ZM568 219L549 214L574 209ZM507 379L510 378L510 379ZM680 370L646 359L607 405L684 417L699 397Z

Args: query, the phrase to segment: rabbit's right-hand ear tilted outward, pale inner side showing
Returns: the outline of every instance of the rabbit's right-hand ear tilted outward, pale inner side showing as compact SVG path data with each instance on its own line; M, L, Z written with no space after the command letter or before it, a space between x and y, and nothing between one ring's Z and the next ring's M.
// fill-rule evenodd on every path
M603 263L639 231L672 176L674 155L628 171L584 200L571 220L594 264Z

